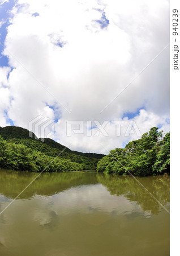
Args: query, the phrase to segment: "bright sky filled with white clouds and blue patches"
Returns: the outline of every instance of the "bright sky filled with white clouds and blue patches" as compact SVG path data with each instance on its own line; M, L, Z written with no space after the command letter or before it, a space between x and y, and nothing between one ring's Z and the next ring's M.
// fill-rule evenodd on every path
M46 118L50 138L103 154L169 132L169 1L0 0L0 16L1 127Z

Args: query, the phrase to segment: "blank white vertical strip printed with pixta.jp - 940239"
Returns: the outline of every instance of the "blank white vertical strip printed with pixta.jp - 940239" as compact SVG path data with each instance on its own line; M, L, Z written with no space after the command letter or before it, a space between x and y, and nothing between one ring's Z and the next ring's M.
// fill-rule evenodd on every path
M178 36L173 36L173 9L178 10ZM173 69L173 46L180 48L180 1L170 1L170 255L179 255L179 205L180 205L180 52L178 54L179 70Z

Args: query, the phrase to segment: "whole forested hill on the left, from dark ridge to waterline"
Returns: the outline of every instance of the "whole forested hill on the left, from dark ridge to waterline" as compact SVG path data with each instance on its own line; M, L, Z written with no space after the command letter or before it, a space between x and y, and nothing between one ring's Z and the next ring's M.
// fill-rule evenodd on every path
M42 171L66 146L53 139L41 142L22 127L0 127L0 168ZM77 171L95 169L102 154L83 153L66 148L45 171Z

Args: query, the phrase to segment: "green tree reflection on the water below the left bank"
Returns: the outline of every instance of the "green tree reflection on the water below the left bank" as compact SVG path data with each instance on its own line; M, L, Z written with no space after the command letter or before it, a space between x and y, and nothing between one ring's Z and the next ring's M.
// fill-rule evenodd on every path
M0 193L14 199L38 174L36 172L3 171L0 175ZM33 195L50 196L70 187L97 183L93 172L54 172L42 173L25 191L19 199L29 199Z

